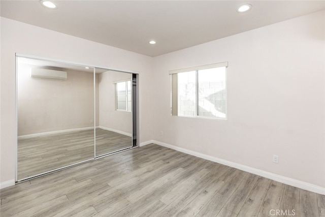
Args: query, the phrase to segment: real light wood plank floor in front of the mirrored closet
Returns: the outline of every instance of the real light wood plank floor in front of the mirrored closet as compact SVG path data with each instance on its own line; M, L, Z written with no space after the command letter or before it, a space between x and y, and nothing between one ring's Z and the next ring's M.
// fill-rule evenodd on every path
M277 216L273 209L325 216L325 196L155 144L1 190L1 216Z

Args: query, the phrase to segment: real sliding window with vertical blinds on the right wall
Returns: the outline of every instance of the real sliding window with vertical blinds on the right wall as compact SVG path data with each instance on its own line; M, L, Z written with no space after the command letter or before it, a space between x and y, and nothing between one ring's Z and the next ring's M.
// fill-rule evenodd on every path
M227 62L170 71L172 115L226 119L226 67Z

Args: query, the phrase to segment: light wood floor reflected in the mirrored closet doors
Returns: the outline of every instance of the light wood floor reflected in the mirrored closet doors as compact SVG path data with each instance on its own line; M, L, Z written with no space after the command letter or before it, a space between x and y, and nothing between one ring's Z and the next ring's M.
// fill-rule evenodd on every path
M93 130L18 139L18 180L94 158ZM96 129L96 156L132 146L131 137Z

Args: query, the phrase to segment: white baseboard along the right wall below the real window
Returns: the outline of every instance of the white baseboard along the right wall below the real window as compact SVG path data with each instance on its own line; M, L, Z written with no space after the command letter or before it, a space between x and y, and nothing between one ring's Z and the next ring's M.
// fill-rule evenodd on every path
M307 191L310 191L310 192L315 192L317 194L325 195L325 188L319 187L319 186L314 185L314 184L310 184L310 183L300 181L300 180L297 180L297 179L293 179L293 178L288 178L286 176L278 175L278 174L275 174L275 173L270 173L270 172L267 172L267 171L264 171L264 170L259 170L259 169L253 168L253 167L248 167L248 166L238 164L238 163L234 163L234 162L231 162L231 161L226 161L226 160L223 160L223 159L215 158L215 157L209 156L207 154L203 154L203 153L200 153L200 152L197 152L197 151L188 150L188 149L181 148L181 147L171 145L171 144L167 144L167 143L164 143L164 142L159 142L159 141L156 141L156 140L150 140L150 141L141 143L140 146L150 144L150 143L161 145L161 146L171 148L171 149L183 152L183 153L190 154L192 156L196 156L196 157L203 158L203 159L206 159L206 160L209 160L209 161L213 161L213 162L216 162L216 163L219 163L219 164L230 166L230 167L233 167L233 168L236 168L236 169L239 169L239 170L243 170L245 172L249 172L249 173L259 175L259 176L262 176L262 177L265 177L265 178L269 178L269 179L272 179L272 180L275 180L275 181L278 181L278 182L281 182L281 183L284 183L284 184L288 184L288 185L291 185L291 186L294 186L294 187L297 187L297 188L300 188L300 189L304 189L304 190L307 190Z

